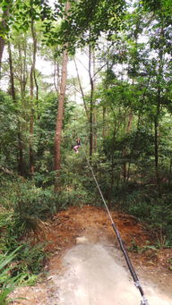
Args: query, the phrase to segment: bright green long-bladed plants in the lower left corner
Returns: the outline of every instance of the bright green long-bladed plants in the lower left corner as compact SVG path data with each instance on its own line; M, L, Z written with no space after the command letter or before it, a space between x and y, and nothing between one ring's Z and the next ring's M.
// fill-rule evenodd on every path
M20 284L34 285L45 264L46 255L41 244L25 244L10 254L0 254L0 304L8 304L8 296Z

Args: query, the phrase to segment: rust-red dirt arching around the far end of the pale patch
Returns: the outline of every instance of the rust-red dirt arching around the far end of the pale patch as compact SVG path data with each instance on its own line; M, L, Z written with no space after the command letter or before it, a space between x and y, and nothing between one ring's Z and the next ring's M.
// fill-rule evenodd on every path
M172 272L168 263L172 258L172 250L149 249L147 246L149 242L150 245L153 244L153 238L135 217L115 211L112 211L111 215L123 241L125 241L125 247L129 250L133 266L138 269L137 272L141 270L142 276L145 278L148 274L150 280L156 278L157 284L160 286L167 279L168 285L165 287L163 284L163 289L172 291ZM51 270L60 267L60 258L64 252L75 244L76 237L83 235L88 237L91 242L107 240L119 248L105 209L92 206L68 208L54 216L47 231L47 241L49 241L47 250L56 251L55 257L49 261Z

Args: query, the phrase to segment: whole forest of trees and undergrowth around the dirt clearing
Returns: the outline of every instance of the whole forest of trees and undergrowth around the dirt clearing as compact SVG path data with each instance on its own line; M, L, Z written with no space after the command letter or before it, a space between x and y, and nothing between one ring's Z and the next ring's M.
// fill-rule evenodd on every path
M36 283L48 219L103 207L87 160L108 207L172 247L171 30L170 0L1 0L1 304Z

